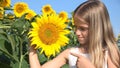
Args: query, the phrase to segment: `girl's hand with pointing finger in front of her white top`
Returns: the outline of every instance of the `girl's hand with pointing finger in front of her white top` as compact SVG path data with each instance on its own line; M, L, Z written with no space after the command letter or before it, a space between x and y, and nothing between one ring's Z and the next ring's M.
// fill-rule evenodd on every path
M76 62L76 66L77 68L95 68L94 65L90 62L90 60L80 54L76 54L76 53L72 53L71 54L73 56L76 56L77 62Z

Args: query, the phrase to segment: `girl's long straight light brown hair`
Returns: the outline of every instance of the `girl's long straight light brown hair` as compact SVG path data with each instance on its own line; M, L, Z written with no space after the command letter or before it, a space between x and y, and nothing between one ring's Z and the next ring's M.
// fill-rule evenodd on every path
M120 52L105 5L98 0L86 1L76 8L73 19L84 20L89 24L88 52L95 67L103 68L104 49L108 50L114 65L120 67Z

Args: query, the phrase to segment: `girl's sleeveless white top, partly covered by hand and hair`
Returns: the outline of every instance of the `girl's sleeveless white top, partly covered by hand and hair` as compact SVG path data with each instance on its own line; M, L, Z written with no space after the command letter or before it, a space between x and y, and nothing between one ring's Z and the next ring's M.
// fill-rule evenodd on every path
M89 54L80 53L80 51L79 51L78 48L72 48L70 51L73 52L73 53L80 54L80 55L82 55L82 56L87 57L88 59L90 59L90 55ZM107 52L108 51L105 52L106 54L105 54L105 62L104 62L103 68L107 68ZM76 61L77 61L77 57L69 54L69 68L77 68L76 67Z

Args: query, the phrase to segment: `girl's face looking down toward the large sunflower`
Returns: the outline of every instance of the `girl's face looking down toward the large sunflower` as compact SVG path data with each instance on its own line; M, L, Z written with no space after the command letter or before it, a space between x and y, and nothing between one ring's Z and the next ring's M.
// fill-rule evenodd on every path
M75 24L75 34L77 35L78 41L81 45L88 43L88 24L86 23L74 23Z

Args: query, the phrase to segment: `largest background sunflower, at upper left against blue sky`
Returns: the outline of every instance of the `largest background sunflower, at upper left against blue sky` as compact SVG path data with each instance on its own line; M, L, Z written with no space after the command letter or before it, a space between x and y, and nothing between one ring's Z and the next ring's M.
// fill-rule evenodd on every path
M25 14L29 10L29 7L24 2L18 2L14 5L14 14L17 17L21 17L23 14Z

